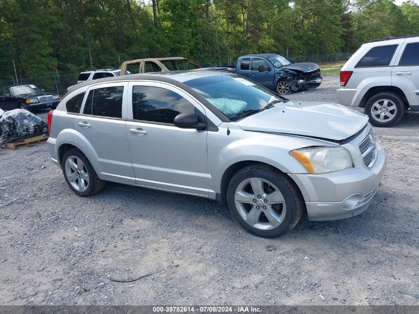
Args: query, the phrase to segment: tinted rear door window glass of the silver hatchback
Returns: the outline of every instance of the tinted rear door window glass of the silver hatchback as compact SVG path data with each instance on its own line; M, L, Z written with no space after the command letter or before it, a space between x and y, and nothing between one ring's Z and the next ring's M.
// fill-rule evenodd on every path
M89 92L83 114L122 118L123 86L93 89Z

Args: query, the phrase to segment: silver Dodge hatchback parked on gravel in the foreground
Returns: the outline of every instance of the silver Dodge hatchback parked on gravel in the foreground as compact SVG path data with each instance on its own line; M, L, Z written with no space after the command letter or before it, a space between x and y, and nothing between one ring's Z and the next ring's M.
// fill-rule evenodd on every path
M359 214L386 167L366 116L222 71L80 83L48 122L52 160L77 195L113 181L216 199L267 238L305 210L310 220Z

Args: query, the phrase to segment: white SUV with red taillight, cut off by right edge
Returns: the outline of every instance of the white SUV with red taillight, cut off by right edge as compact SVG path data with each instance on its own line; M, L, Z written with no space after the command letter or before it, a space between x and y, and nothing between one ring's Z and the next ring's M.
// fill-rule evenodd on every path
M364 107L374 126L393 126L406 110L419 110L419 35L363 44L340 78L340 104Z

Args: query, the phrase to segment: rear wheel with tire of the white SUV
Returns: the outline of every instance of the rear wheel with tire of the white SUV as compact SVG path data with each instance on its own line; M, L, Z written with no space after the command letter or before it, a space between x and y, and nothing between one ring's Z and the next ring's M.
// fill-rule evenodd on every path
M405 105L395 93L377 93L365 104L365 114L373 126L393 126L405 115Z

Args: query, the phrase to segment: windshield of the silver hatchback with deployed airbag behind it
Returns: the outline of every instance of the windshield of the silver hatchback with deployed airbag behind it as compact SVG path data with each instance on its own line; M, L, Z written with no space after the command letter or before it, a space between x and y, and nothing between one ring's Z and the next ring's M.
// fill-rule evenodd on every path
M231 73L216 73L211 76L191 79L183 82L199 94L228 118L242 117L266 109L268 104L287 101L266 88ZM239 117L238 117L239 118Z

